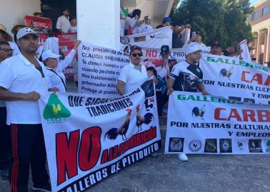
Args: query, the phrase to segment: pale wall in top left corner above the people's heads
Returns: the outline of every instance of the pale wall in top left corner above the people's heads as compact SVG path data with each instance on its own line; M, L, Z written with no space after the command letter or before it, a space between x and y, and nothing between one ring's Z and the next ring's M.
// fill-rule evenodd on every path
M14 23L24 23L24 16L41 10L40 0L0 0L0 23L11 34Z

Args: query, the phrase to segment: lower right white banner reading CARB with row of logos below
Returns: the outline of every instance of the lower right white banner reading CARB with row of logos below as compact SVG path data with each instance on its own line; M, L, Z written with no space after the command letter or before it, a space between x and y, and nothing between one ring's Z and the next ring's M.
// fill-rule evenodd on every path
M174 91L166 154L270 154L270 105Z

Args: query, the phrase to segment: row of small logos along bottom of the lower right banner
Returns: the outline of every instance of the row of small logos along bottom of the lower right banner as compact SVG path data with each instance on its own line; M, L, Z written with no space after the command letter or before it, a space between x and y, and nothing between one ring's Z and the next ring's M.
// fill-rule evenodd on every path
M184 150L184 138L180 137L171 137L169 139L169 152L183 152ZM261 146L261 139L249 139L249 142L246 144L244 141L235 142L236 149L238 151L244 151L249 149L249 153L263 153L263 147ZM219 151L218 151L218 139L205 139L204 148L203 142L199 139L194 139L189 142L189 151L199 152L204 150L204 153L221 153L221 154L230 154L233 153L233 142L231 139L219 139ZM270 140L265 142L265 151L270 153ZM187 152L187 151L184 151Z

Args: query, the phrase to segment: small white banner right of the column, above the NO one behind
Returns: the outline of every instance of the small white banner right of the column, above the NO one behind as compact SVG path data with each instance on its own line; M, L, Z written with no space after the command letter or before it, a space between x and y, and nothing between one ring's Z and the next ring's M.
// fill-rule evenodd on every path
M167 45L171 48L171 39L171 26L158 28L145 33L122 36L121 50L129 52L129 46L134 45L144 48L161 48L161 46Z

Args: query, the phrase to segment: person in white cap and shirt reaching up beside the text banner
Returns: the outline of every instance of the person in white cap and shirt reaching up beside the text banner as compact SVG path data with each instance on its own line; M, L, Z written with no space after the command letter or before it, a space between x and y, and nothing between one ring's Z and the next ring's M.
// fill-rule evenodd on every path
M58 61L61 55L56 55L51 50L44 50L41 55L42 61L46 66L45 73L51 82L51 87L57 87L60 92L66 92L66 77L63 70L72 62L80 43L81 41L76 41L74 48L61 62Z

